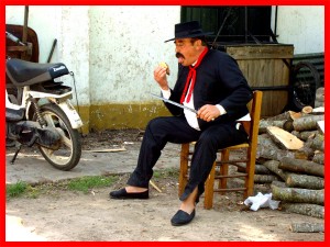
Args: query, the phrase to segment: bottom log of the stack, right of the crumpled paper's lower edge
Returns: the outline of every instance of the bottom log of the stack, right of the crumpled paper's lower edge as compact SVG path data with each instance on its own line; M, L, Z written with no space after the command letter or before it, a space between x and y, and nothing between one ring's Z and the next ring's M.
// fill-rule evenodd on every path
M280 203L285 212L302 214L311 217L324 218L324 206L310 203Z

